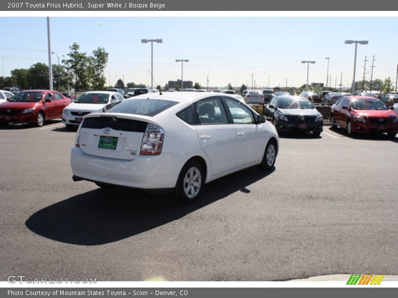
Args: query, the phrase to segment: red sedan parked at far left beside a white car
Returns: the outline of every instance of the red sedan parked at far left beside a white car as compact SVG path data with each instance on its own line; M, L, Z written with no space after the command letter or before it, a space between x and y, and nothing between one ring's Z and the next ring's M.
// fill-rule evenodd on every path
M70 103L70 98L58 91L22 91L0 105L0 126L7 126L8 123L42 126L46 120L61 118L62 110Z

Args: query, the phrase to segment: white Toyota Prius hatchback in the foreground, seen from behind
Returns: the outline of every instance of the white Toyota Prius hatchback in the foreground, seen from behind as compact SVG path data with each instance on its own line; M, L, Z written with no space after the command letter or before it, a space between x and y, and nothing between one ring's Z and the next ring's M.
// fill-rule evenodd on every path
M274 126L234 95L151 93L85 116L71 166L74 181L174 191L192 203L207 182L254 165L270 170L278 148Z

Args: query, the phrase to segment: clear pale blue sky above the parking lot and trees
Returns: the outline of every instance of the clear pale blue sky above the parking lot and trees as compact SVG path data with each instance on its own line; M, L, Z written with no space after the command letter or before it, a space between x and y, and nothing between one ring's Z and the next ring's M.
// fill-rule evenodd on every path
M45 12L48 13L48 12ZM115 15L111 13L110 15ZM204 12L204 14L207 14ZM301 86L308 82L326 85L327 73L331 86L350 86L353 79L355 45L345 40L368 40L358 45L356 80L364 75L370 80L391 77L395 84L398 65L398 44L395 32L398 14L390 16L204 16L184 12L171 16L104 16L50 15L51 50L62 60L73 43L80 51L92 55L103 47L109 53L105 68L107 83L144 83L150 86L151 44L141 39L162 39L153 45L154 85L164 86L169 80L199 82L203 87L223 88L246 84L249 88ZM31 15L29 13L28 15ZM65 13L64 13L65 15ZM160 14L159 14L160 15ZM233 14L236 15L236 14ZM379 13L379 15L382 15ZM45 15L0 15L0 46L2 73L29 68L41 62L48 64L47 20ZM52 64L57 64L51 55ZM327 59L329 57L329 68ZM330 83L331 81L331 83Z

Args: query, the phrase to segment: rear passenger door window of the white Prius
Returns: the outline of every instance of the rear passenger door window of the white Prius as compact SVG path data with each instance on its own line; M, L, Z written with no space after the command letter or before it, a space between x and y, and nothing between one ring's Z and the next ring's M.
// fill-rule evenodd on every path
M206 98L196 105L199 124L227 124L228 117L219 97Z

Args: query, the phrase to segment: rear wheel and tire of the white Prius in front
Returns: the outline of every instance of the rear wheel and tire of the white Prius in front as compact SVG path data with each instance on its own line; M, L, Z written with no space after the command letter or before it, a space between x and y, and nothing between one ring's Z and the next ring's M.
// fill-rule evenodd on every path
M204 185L201 164L196 160L188 161L182 168L177 181L177 198L183 204L192 204L199 198Z

